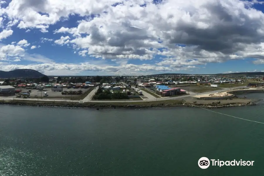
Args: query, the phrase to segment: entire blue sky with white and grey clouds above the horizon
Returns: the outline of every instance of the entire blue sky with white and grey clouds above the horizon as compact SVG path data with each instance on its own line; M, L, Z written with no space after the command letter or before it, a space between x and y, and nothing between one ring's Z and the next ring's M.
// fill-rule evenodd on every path
M0 70L45 75L264 72L251 0L0 0Z

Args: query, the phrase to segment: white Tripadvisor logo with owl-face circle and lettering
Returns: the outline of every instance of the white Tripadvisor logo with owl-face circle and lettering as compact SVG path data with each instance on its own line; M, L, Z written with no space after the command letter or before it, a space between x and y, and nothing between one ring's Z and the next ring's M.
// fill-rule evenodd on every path
M254 161L243 161L243 160L231 160L231 161L221 161L202 157L198 160L198 166L202 169L207 169L210 166L253 166Z

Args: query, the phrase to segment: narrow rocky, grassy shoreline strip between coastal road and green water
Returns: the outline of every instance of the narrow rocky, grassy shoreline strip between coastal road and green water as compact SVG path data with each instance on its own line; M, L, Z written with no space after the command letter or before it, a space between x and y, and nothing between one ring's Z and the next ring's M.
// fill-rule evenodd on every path
M131 103L66 103L66 102L30 102L30 101L0 101L0 104L17 105L17 106L34 106L34 107L67 107L67 108L168 108L168 107L202 107L202 108L226 108L237 106L252 106L256 102L261 101L258 99L248 100L247 103L235 102L235 103L220 103L212 104L205 103L191 103L185 100L183 101L164 101L164 102L142 102L138 104ZM211 101L210 101L211 102Z

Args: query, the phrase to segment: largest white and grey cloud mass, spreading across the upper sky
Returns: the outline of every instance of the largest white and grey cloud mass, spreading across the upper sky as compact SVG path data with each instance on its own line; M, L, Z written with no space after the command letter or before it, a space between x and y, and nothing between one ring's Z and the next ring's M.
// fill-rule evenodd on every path
M153 4L153 0L127 0L111 6L119 2L13 0L0 10L6 15L2 21L11 20L0 40L12 35L12 26L47 33L50 25L77 14L84 18L75 27L60 26L53 31L57 40L41 38L41 43L54 41L72 47L80 56L121 60L122 65L128 65L129 59L152 60L162 55L160 62L145 67L165 71L245 58L264 63L264 14L253 8L259 1L166 0ZM92 18L91 14L97 15ZM58 34L64 36L58 39Z

